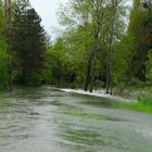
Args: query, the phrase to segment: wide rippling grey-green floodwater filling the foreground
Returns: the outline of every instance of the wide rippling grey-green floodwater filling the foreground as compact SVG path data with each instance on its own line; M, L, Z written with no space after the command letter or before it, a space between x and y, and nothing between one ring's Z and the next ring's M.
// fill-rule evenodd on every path
M50 87L0 98L0 152L152 152L152 116Z

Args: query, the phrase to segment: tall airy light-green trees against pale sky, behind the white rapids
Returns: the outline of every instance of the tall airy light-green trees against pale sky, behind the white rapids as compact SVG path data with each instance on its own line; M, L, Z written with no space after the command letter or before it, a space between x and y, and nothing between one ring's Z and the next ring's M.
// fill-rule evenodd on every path
M125 31L126 10L123 1L118 1L114 18L115 40L119 40ZM112 1L102 0L72 0L59 12L60 23L64 26L61 38L64 41L68 72L75 75L75 84L85 86L85 90L94 88L96 81L105 85L113 12Z

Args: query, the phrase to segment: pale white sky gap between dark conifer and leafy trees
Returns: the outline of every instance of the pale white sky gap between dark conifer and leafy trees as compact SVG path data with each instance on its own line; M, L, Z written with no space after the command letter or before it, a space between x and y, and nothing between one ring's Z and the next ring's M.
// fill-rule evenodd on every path
M52 28L58 26L56 11L60 3L66 3L68 0L29 0L37 13L42 18L45 29L53 37Z

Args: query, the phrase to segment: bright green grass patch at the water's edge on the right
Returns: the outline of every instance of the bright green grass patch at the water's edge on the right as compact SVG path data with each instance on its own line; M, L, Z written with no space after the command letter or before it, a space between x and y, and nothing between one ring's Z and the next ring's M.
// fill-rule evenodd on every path
M140 99L137 103L121 103L121 106L152 114L152 98Z

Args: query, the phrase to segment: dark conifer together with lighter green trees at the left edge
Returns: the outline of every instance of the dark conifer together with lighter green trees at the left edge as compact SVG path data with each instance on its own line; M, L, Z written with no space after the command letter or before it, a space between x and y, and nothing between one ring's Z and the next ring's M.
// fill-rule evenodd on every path
M1 88L39 86L46 59L46 31L28 1L1 1Z

